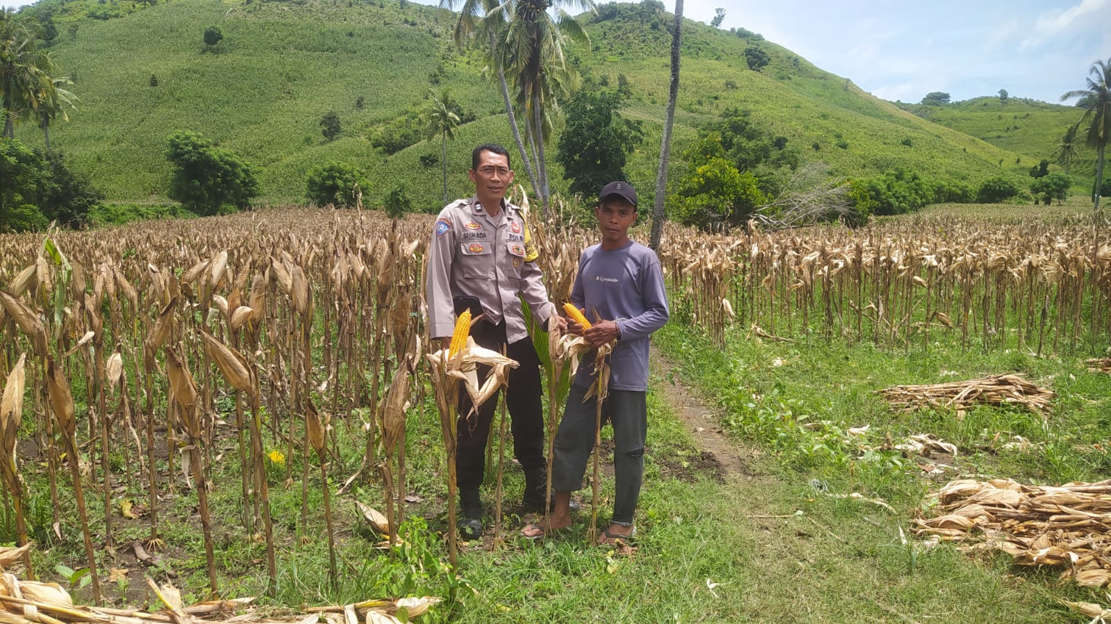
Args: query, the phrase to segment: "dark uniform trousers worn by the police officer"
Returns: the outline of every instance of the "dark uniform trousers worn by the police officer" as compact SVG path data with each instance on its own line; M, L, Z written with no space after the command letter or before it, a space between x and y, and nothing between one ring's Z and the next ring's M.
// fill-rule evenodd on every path
M479 346L502 352L520 364L510 369L509 385L506 391L506 406L513 432L513 454L526 472L547 465L544 461L544 417L540 403L540 359L532 340L524 338L506 345L506 322L497 325L479 321L471 328L471 336ZM489 366L479 366L479 380L489 374ZM486 469L486 445L490 437L490 424L498 407L494 394L478 411L471 414L471 397L460 392L457 435L456 474L460 489L476 489L482 484ZM470 416L468 417L468 414Z

